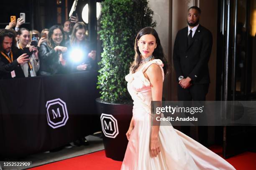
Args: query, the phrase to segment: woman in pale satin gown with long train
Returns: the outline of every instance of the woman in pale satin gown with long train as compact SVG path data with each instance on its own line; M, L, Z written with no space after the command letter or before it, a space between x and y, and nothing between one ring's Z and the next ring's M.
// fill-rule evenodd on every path
M234 170L223 158L168 126L151 126L151 101L161 101L168 70L156 30L143 28L135 40L135 60L125 76L133 117L122 170Z

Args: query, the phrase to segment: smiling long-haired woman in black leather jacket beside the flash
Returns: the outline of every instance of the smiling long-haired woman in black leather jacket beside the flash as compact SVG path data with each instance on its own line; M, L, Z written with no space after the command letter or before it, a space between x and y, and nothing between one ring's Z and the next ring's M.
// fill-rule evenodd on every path
M42 42L39 48L40 75L53 75L66 72L65 60L61 53L67 51L64 47L64 31L61 26L54 25L49 29L47 43Z

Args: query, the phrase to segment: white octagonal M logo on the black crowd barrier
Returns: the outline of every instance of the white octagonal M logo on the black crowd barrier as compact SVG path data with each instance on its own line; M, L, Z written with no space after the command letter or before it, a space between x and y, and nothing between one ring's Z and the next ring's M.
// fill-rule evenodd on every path
M60 98L46 102L47 122L51 128L59 128L66 125L69 115L67 106Z

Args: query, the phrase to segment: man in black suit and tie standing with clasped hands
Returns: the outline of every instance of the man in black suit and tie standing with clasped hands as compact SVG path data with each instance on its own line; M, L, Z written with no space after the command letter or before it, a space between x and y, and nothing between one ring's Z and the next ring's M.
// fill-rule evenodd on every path
M200 15L199 7L189 8L188 27L179 30L174 42L173 62L179 82L177 90L179 101L205 101L209 88L208 61L212 51L212 33L199 24ZM202 128L205 132L200 132L200 135L207 138L207 128ZM182 131L189 135L189 129ZM200 127L199 131L201 131ZM206 145L206 143L204 139L202 144Z

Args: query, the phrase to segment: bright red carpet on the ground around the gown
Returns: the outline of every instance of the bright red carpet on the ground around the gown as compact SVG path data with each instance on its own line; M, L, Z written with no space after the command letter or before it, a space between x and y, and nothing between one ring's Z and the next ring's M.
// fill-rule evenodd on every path
M221 155L221 147L211 147L212 151ZM256 153L242 153L227 159L237 170L256 170ZM122 162L105 157L105 151L61 160L55 163L42 165L30 170L120 170Z

